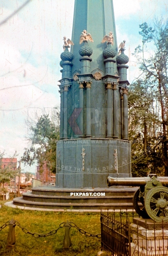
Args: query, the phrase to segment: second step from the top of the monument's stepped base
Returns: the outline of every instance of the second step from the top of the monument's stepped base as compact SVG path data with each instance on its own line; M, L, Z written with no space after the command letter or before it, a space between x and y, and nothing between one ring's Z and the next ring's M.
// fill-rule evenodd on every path
M23 200L34 202L50 202L50 203L132 203L131 196L56 196L56 195L34 195L31 192L23 193Z

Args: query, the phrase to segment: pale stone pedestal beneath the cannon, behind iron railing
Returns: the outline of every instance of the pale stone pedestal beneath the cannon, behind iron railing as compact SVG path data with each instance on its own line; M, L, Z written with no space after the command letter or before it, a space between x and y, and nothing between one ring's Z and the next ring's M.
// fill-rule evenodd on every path
M131 256L168 255L168 223L134 218L130 233Z

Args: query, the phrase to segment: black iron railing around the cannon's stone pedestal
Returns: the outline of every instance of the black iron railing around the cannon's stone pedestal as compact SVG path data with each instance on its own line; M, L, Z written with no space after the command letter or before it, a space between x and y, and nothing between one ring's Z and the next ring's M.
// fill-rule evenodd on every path
M132 212L101 211L101 250L112 256L168 256L168 224L143 221ZM133 221L134 218L134 221Z

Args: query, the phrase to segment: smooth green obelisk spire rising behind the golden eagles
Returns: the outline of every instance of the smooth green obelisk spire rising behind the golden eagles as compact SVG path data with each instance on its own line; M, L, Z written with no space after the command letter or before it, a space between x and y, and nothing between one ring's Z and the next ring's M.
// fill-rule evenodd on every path
M106 44L101 44L105 35L112 31L114 35L114 45L112 49L117 51L117 36L115 30L115 17L112 0L77 0L75 1L72 41L75 44L71 48L74 55L73 71L80 67L80 55L78 53L80 44L79 38L81 32L86 29L92 35L93 43L89 43L93 49L92 53L92 70L99 68L104 70L102 52ZM116 70L115 70L116 72Z

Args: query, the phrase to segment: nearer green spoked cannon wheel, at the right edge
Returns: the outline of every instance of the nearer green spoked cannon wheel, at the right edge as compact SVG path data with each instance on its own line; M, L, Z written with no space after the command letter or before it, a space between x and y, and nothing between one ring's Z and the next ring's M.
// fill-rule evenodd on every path
M168 188L158 186L150 189L144 203L151 219L157 222L168 222Z

